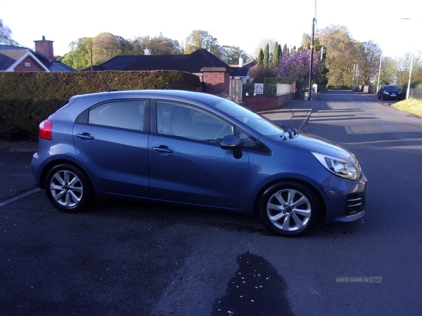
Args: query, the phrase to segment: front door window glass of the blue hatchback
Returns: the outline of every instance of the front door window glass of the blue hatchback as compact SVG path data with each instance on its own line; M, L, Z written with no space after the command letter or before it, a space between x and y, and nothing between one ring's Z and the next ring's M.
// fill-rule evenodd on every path
M157 131L162 135L218 144L234 133L233 126L196 107L158 102L156 109Z

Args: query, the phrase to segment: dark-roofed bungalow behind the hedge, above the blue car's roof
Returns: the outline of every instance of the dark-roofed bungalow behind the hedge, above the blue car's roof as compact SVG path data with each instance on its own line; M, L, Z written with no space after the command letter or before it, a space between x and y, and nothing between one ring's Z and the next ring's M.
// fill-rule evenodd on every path
M243 65L243 57L241 65ZM186 55L151 55L148 48L144 55L119 55L104 62L99 66L88 67L84 71L152 71L152 70L179 70L190 72L200 77L205 86L205 91L212 94L231 94L231 79L250 79L250 67L231 67L215 57L205 49L198 49ZM249 67L250 66L250 67Z

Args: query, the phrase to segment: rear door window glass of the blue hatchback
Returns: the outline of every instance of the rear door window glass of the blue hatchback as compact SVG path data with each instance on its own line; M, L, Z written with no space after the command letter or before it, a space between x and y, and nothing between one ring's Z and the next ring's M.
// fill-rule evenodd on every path
M106 103L89 110L88 123L142 131L144 112L145 101Z

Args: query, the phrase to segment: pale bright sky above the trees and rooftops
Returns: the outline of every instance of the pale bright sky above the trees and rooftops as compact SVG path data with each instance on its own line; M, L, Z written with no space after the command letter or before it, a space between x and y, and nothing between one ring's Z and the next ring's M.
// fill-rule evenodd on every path
M128 40L162 34L184 43L196 29L209 32L220 46L252 55L264 39L300 46L316 18L315 35L328 25L344 25L353 39L372 40L383 55L395 58L422 51L415 35L422 29L422 18L416 18L421 8L420 0L0 0L0 20L27 48L34 49L43 36L54 41L54 55L68 53L72 41L102 32Z

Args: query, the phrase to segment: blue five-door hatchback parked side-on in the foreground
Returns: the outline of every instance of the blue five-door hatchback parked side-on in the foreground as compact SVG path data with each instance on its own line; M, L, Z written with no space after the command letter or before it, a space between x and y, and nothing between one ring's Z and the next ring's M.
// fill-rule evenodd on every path
M66 212L94 197L256 211L279 235L364 216L356 157L224 98L190 91L74 96L39 125L35 183Z

